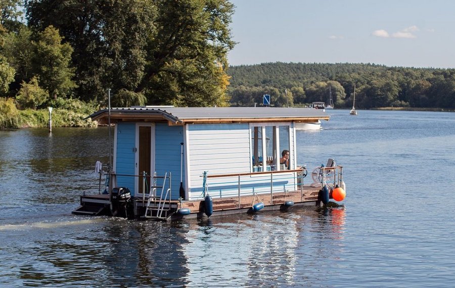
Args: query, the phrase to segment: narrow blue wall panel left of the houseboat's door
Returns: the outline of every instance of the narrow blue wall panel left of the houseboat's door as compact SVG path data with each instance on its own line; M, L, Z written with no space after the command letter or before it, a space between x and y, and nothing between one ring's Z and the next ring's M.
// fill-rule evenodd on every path
M135 163L135 123L117 124L116 173L134 175ZM134 177L117 176L117 186L127 187L134 195Z

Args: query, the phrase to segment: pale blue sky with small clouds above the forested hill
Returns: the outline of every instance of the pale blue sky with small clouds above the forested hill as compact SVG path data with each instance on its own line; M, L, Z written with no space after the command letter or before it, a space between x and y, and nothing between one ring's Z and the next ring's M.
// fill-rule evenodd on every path
M231 0L230 65L455 68L455 0Z

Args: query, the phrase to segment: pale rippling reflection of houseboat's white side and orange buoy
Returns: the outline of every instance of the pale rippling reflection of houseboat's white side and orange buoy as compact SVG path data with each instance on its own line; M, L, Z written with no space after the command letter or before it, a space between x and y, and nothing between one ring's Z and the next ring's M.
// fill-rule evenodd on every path
M183 246L186 281L190 286L211 281L230 286L302 283L297 271L321 269L317 258L332 257L327 247L334 243L328 242L342 240L344 209L332 210L337 211L303 209L190 223ZM330 240L327 229L333 231ZM309 251L316 251L309 257L314 261L301 262Z

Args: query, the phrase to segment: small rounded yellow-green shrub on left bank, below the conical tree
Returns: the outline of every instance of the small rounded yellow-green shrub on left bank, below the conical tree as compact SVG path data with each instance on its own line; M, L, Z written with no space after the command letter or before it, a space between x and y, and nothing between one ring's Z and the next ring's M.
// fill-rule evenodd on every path
M39 87L38 79L33 77L29 83L22 82L22 87L17 93L16 100L21 108L33 108L42 105L48 100L49 94Z

